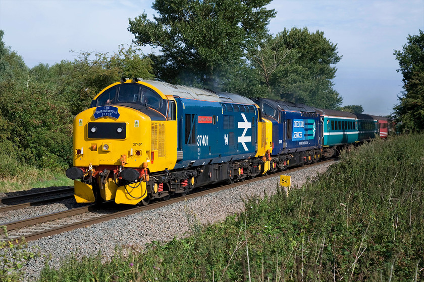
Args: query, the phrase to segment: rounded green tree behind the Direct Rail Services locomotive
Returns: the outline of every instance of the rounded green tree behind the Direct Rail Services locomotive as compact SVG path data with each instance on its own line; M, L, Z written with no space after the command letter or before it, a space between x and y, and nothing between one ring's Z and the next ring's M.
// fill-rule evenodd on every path
M256 73L251 79L261 86L256 88L264 97L329 109L338 108L342 102L331 81L337 70L334 64L341 56L337 44L326 39L323 32L309 33L307 28L295 27L284 29L275 37L268 36L257 48L250 49L247 59L248 69L238 70L235 77ZM236 83L229 84L229 90L236 89L251 96L243 83L252 82L235 80ZM244 89L247 92L243 92Z

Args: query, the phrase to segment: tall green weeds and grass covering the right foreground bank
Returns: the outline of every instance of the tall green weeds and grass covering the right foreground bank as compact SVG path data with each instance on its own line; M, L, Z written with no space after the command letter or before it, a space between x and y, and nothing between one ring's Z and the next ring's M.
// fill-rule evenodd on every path
M424 135L376 140L316 181L193 235L46 267L39 281L417 281L424 279ZM124 255L127 254L128 255Z

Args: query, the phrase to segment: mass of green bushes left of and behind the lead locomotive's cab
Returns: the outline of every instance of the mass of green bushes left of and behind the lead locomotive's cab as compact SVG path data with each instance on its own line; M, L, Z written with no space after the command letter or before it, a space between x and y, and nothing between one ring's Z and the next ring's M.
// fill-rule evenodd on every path
M64 170L72 165L73 117L121 77L152 79L152 61L139 48L113 55L80 53L74 61L25 65L0 30L0 179L22 178L19 169ZM19 185L19 184L17 184Z

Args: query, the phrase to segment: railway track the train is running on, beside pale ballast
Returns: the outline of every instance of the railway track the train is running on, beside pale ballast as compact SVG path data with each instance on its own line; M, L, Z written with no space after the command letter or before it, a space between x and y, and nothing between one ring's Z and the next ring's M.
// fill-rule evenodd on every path
M24 238L25 241L34 241L43 237L52 236L56 234L60 234L62 232L71 231L77 228L82 228L85 226L89 226L96 223L101 223L105 221L109 221L115 218L125 217L128 215L132 215L135 213L142 212L143 210L154 209L158 207L162 207L171 203L176 203L180 201L184 201L186 199L191 199L195 197L199 197L202 195L214 193L217 191L229 189L232 187L236 187L239 185L243 185L246 183L255 182L257 180L263 180L271 177L276 177L282 174L294 172L297 170L301 170L303 168L310 168L316 165L321 165L327 162L333 162L334 160L328 160L320 163L315 163L312 165L293 168L290 170L285 170L283 172L264 175L260 177L256 177L255 179L249 179L243 182L237 182L229 185L222 185L215 188L204 189L198 192L190 193L185 195L184 197L175 197L166 201L157 201L150 203L147 206L137 206L129 209L118 210L117 208L122 208L123 206L117 207L114 202L105 202L102 204L90 204L78 208L73 208L66 210L64 212L48 214L36 218L25 219L21 221L11 222L5 224L8 230L9 237L3 237L0 240L13 240L14 242L20 242ZM112 205L113 209L106 210L105 207L107 205Z

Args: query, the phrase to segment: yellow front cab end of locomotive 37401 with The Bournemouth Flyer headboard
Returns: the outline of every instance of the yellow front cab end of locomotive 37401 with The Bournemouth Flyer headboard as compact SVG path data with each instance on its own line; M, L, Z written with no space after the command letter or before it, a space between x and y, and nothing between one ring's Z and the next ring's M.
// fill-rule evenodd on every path
M144 82L125 80L104 89L75 117L74 167L66 174L74 180L77 202L148 199L149 172L175 165L176 140L165 144L165 132L176 130L176 121L168 121L168 99ZM157 148L158 142L163 146Z

